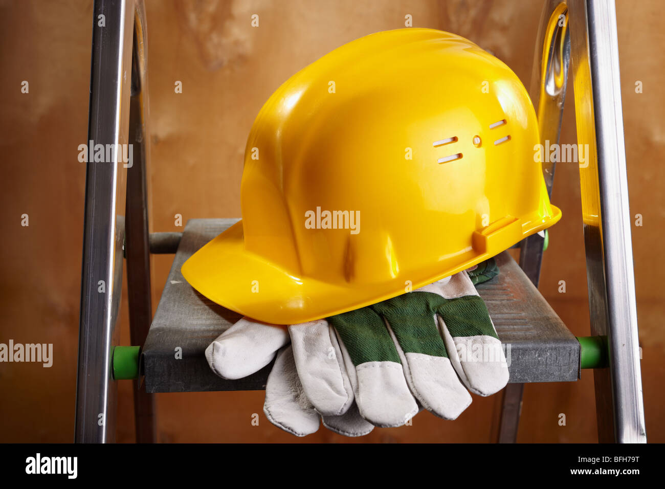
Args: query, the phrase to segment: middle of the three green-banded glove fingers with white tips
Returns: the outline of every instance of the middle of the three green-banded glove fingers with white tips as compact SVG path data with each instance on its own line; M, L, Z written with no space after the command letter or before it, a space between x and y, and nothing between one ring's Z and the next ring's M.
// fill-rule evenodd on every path
M432 414L455 419L469 407L471 396L460 383L438 331L432 311L438 300L415 291L372 307L384 318L414 397Z

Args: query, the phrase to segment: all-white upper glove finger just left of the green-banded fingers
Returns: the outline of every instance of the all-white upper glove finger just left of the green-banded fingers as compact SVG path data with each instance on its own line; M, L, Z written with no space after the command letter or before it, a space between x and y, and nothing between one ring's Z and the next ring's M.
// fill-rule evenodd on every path
M289 326L293 358L307 398L324 416L344 414L353 402L337 337L327 321Z

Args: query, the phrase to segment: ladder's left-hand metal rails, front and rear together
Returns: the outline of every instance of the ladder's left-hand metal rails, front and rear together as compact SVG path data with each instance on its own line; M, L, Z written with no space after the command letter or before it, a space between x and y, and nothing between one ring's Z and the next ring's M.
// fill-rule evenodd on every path
M87 144L131 144L131 162L87 162L81 280L76 442L113 442L122 258L127 250L133 345L146 339L150 303L147 180L147 31L143 0L95 0ZM139 442L154 441L154 400L134 381Z

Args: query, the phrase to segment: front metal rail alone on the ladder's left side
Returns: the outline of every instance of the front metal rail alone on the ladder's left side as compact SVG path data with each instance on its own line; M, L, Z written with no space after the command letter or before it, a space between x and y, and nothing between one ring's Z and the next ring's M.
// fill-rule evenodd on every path
M136 36L137 53L144 55L144 27L142 0L94 2L88 120L88 141L94 144L114 144L117 149L145 139L142 132L136 133L133 127L136 122L130 121L130 96L138 88L137 79L132 80L132 41ZM138 55L134 59L137 73L145 73L144 60ZM142 131L143 117L139 122L138 130ZM131 137L130 128L134 129ZM144 164L144 148L140 148L139 153L140 164ZM90 161L86 167L76 442L112 442L115 439L116 386L112 381L112 353L119 336L129 166L122 158L118 161L118 156L108 162Z

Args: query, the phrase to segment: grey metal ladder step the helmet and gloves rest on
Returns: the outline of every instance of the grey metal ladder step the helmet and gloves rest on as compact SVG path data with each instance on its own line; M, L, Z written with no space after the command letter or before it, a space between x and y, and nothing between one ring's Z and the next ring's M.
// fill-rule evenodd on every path
M142 349L148 393L265 389L272 365L235 381L221 379L210 370L205 348L241 316L200 295L180 273L186 259L237 221L192 219L187 223ZM496 259L499 275L477 289L504 345L510 382L576 381L579 342L509 253L504 251Z

